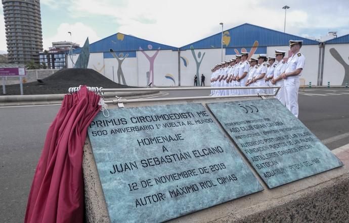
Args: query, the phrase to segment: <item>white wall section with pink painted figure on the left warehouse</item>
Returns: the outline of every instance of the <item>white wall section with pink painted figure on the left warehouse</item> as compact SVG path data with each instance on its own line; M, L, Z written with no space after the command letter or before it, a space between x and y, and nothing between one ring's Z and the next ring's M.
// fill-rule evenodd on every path
M145 51L150 57L156 50ZM138 86L147 85L147 72L150 63L141 51L137 51ZM173 77L174 81L165 78L167 74ZM154 85L155 86L178 86L178 51L160 50L154 61Z

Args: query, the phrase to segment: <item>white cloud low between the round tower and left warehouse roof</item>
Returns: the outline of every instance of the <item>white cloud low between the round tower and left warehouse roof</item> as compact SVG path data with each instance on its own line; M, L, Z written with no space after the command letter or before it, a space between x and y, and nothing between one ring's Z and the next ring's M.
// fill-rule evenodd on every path
M83 23L62 23L57 28L55 35L43 38L43 49L48 49L52 46L52 42L70 41L68 32L72 33L72 41L80 44L80 46L83 45L87 37L89 37L90 43L101 39L91 27Z

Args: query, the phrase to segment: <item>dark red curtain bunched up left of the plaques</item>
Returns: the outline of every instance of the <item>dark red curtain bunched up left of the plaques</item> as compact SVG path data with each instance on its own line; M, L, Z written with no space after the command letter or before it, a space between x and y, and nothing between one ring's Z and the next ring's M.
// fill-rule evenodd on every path
M25 222L83 222L83 144L100 96L83 86L65 95L36 166Z

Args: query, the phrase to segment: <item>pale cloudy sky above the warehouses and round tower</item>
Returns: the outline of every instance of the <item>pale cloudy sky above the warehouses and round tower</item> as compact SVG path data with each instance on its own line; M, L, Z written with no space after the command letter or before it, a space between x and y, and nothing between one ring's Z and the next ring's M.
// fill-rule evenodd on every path
M235 26L250 23L308 38L337 31L349 34L347 0L41 0L43 48L53 41L83 45L121 32L180 47ZM72 33L72 36L68 34ZM0 5L0 52L7 51Z

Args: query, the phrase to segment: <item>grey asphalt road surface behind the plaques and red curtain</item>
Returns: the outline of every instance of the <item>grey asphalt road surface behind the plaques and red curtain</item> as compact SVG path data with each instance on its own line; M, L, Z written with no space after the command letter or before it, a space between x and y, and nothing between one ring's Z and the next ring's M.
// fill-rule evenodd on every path
M207 96L209 90L190 93ZM188 96L188 91L161 97L180 96ZM0 107L0 222L23 222L46 131L59 107ZM299 107L299 119L330 149L349 143L349 89L300 90Z

